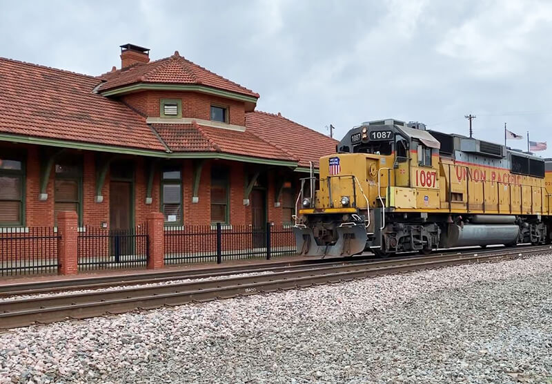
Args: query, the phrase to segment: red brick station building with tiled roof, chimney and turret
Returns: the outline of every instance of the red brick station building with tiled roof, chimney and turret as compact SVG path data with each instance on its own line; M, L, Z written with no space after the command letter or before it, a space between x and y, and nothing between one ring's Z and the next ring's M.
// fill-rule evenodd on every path
M335 140L255 111L259 95L175 52L121 46L80 75L0 58L0 227L290 222L298 180Z

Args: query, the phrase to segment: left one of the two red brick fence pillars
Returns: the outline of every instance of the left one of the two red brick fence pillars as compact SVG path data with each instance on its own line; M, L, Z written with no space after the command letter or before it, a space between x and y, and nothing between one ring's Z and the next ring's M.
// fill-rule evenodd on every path
M57 247L60 275L75 275L78 272L77 231L79 231L77 212L57 214L57 234L61 236Z

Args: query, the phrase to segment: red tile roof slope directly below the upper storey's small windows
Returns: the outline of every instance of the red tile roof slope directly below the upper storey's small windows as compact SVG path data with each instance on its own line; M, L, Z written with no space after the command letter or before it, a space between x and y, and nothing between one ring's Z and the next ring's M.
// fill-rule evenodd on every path
M174 152L224 152L296 162L297 158L249 131L235 131L197 124L152 124Z

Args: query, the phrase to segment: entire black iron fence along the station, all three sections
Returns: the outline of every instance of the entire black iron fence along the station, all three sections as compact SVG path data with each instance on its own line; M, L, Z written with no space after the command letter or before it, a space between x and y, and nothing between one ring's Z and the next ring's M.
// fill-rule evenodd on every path
M0 276L57 273L59 239L54 227L0 228ZM166 228L163 241L166 265L296 254L293 231L283 225L187 225ZM77 266L144 268L149 242L146 224L128 230L86 227L77 233Z

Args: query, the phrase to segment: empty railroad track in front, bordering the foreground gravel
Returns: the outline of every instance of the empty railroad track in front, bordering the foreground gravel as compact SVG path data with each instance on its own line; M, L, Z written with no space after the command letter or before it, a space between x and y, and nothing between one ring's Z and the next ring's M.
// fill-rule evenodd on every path
M6 300L0 303L0 329L22 327L32 323L53 323L66 318L121 314L134 309L153 309L165 305L232 298L389 273L504 260L548 251L551 251L549 246L477 252L472 250L470 253L446 253L417 258L395 258L337 265L303 265L262 275Z

